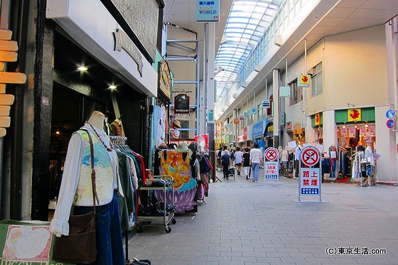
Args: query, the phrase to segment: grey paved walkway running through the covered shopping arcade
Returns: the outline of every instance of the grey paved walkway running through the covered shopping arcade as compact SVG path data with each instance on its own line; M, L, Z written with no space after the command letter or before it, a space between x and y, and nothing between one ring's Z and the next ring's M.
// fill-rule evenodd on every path
M153 265L398 264L398 187L323 183L329 203L305 203L294 202L293 179L217 176L222 183L210 184L196 215L177 216L169 234L144 227L129 240L129 258Z

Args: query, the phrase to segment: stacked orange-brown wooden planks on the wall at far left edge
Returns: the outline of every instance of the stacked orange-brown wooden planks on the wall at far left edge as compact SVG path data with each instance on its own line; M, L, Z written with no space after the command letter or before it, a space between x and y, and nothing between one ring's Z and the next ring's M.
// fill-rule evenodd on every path
M6 128L11 124L9 117L14 95L6 94L5 84L24 84L26 75L22 72L4 72L6 62L16 62L18 58L18 43L11 40L12 31L0 30L0 137L6 135Z

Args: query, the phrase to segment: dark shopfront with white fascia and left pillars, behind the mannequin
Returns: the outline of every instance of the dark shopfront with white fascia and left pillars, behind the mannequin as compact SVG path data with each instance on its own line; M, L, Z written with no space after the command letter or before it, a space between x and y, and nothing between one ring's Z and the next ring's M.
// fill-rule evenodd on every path
M36 43L36 49L21 49L30 80L16 97L21 104L11 117L14 134L4 138L4 152L16 156L4 156L9 171L3 171L8 173L2 176L1 205L10 206L2 207L1 218L48 220L48 201L56 197L70 135L92 111L107 115L109 124L121 120L127 144L148 163L163 1L17 2L26 1L9 2L11 13L21 13L20 18L9 17L9 28L20 28L18 19L23 21L28 34L16 34L21 43ZM134 28L142 25L136 23L138 15L123 13L127 7L146 10L145 30ZM87 69L81 72L78 66ZM20 146L9 145L16 141Z

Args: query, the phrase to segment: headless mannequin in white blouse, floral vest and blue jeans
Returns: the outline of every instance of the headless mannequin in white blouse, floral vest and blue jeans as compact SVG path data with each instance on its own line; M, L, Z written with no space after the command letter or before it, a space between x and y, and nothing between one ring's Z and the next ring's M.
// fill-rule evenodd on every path
M72 134L50 232L57 237L61 234L69 234L68 219L72 205L74 205L74 215L83 215L92 211L91 165L87 162L90 161L88 132L93 141L98 195L96 202L97 261L93 264L124 265L117 200L117 195L123 196L123 191L119 188L122 185L118 173L117 153L104 132L104 119L104 114L95 111L85 126Z

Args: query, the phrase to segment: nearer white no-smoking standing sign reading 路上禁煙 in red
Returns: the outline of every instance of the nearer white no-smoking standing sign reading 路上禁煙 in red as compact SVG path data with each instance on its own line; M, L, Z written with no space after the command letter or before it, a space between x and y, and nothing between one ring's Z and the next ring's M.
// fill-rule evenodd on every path
M295 202L324 202L321 193L321 152L314 146L301 150L298 176L298 200ZM302 196L318 200L301 200Z

